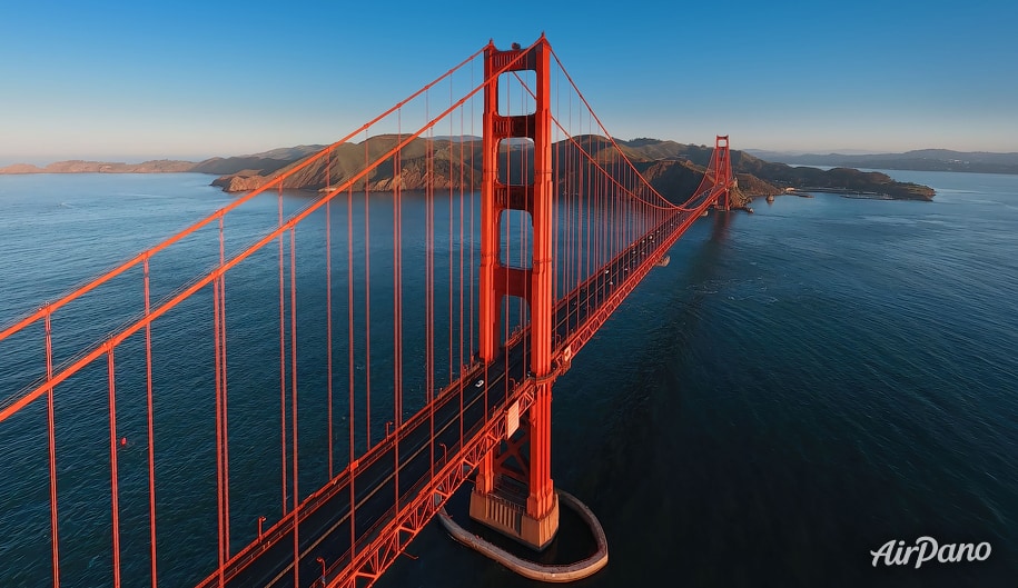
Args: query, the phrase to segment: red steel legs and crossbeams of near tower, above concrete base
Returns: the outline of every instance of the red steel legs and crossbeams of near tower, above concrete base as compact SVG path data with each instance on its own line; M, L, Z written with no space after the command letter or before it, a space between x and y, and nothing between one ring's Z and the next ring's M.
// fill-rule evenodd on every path
M552 282L554 266L552 259L553 238L553 185L551 140L551 47L542 36L527 49L498 51L494 44L485 49L485 78L491 80L484 91L483 127L483 181L481 196L481 357L488 362L503 347L500 335L502 323L502 300L506 296L521 298L530 306L531 313L531 371L541 383L536 399L524 422L523 435L508 440L508 451L520 454L530 448L528 459L516 460L516 467L526 478L528 497L526 512L535 519L544 518L552 509L554 484L551 478L551 379L546 378L552 366ZM505 63L515 66L505 68ZM536 73L533 93L535 109L531 114L500 114L498 78L493 72L500 69L517 72L528 70ZM533 140L533 179L525 183L500 180L498 148L503 141L514 138ZM505 177L511 170L506 170ZM527 212L533 227L533 251L530 268L507 267L501 262L503 211L518 209ZM525 233L524 233L525 235ZM483 494L494 489L497 475L514 476L516 472L501 466L496 456L485 456L477 472L477 488ZM557 527L557 522L555 524Z

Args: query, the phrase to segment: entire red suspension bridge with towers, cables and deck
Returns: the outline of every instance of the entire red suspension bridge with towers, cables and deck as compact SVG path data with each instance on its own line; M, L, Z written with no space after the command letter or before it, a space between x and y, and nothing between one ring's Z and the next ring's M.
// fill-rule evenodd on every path
M298 186L318 192L286 211ZM0 358L27 358L0 369L0 440L48 515L18 549L47 554L34 577L53 586L96 566L112 586L367 586L464 485L475 520L543 548L559 526L555 379L734 187L719 136L700 186L665 198L543 36L488 43L0 331ZM233 233L251 208L264 230ZM195 247L205 266L181 278ZM111 288L134 303L97 312ZM98 335L60 328L76 308L101 317ZM270 325L254 326L254 308ZM191 347L208 357L174 359ZM30 352L4 356L16 348ZM257 369L241 370L253 356ZM160 400L170 386L194 410ZM65 402L76 408L61 420ZM171 454L182 441L166 423L181 413L194 430ZM78 425L103 447L88 466L58 442ZM79 467L105 472L98 495L67 481ZM77 530L81 500L107 509L97 534ZM181 520L205 525L201 537Z

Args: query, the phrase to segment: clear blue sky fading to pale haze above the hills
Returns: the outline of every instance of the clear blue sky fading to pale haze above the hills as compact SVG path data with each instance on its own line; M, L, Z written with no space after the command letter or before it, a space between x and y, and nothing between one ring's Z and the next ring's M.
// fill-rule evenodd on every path
M1016 23L1014 0L0 0L0 165L326 143L542 31L623 139L1018 151Z

